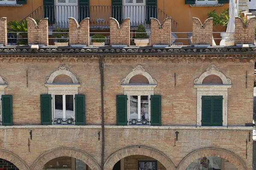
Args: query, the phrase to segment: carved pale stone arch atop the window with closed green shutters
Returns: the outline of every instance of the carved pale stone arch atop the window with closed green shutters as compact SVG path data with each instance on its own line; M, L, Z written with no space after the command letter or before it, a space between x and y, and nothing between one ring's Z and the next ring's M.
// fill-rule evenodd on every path
M220 77L223 82L223 85L231 85L231 79L227 78L223 73L221 73L219 68L216 67L214 64L210 65L210 67L207 68L206 72L201 74L199 78L196 78L194 80L194 84L201 85L204 78L210 75L215 75Z

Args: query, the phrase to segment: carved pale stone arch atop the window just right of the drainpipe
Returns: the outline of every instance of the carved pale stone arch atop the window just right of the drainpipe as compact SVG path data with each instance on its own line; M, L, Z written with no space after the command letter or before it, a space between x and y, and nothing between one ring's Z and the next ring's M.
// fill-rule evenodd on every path
M151 77L148 72L145 71L142 65L137 65L131 73L129 73L122 81L120 82L121 85L128 85L130 82L130 79L134 77L135 75L143 75L148 79L148 82L150 85L157 85L157 81Z

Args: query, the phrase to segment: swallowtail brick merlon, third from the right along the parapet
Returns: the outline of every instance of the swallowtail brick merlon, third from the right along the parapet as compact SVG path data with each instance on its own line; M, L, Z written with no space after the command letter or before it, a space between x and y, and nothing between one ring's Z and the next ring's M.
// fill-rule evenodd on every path
M160 24L156 18L151 18L151 45L172 45L172 18L168 17Z

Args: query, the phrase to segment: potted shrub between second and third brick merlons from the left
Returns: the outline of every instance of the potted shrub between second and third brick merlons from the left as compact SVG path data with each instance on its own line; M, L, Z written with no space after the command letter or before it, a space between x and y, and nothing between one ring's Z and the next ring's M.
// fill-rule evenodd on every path
M54 30L55 33L52 34L54 38L57 39L57 42L54 42L56 46L67 46L68 45L68 30L66 28L57 27ZM67 32L67 33L66 33Z

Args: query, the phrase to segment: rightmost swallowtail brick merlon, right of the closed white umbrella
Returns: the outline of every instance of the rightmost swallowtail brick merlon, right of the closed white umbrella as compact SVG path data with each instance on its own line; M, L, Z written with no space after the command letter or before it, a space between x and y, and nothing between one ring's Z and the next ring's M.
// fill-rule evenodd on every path
M247 20L246 27L240 17L235 19L235 45L254 44L255 17Z

